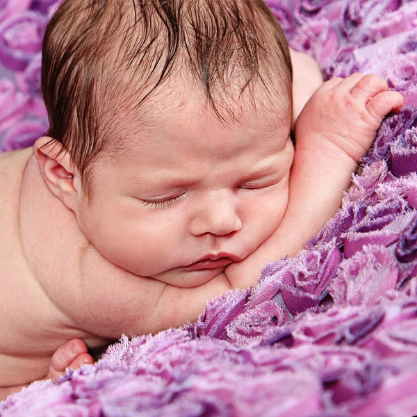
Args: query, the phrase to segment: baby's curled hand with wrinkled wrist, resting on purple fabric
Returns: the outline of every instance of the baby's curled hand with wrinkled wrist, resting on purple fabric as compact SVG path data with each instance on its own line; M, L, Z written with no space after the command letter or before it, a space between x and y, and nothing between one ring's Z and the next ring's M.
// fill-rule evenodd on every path
M404 104L380 76L352 74L324 83L304 107L295 125L296 152L323 152L356 163L368 152L382 119ZM342 152L340 152L342 151Z

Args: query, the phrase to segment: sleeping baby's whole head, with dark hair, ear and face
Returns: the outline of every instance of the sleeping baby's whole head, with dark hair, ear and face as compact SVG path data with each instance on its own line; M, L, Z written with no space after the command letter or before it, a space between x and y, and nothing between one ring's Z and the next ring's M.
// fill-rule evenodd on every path
M66 0L44 38L44 180L108 261L204 284L284 215L291 77L262 0Z

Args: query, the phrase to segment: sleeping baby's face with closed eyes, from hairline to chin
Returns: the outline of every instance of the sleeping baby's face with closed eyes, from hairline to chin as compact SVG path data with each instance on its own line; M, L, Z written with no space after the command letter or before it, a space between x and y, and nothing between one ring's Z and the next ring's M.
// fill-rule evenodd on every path
M120 155L97 161L77 213L85 236L115 265L184 288L245 259L288 201L290 115L268 113L225 126L191 99L155 111Z

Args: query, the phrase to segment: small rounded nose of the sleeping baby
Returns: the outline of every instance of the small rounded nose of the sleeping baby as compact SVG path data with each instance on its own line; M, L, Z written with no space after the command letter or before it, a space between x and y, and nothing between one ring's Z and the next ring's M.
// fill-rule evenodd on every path
M227 191L212 193L197 209L190 229L194 236L225 236L242 229L234 196Z

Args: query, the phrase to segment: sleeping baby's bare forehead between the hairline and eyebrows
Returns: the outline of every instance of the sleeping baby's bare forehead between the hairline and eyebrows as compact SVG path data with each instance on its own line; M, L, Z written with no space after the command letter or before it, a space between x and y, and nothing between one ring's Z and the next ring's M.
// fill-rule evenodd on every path
M142 154L158 158L168 149L179 153L186 153L187 148L205 152L213 145L222 149L224 141L236 138L241 138L241 143L247 146L252 140L262 146L265 140L271 139L284 146L290 135L291 110L277 98L270 103L254 97L256 106L242 101L233 115L226 112L218 115L200 95L192 92L175 99L162 97L149 100L140 117L132 112L124 115L120 134L106 140L109 152L104 152L102 161L106 161L106 155L111 155L116 165L117 161L136 158L139 161L138 156Z

